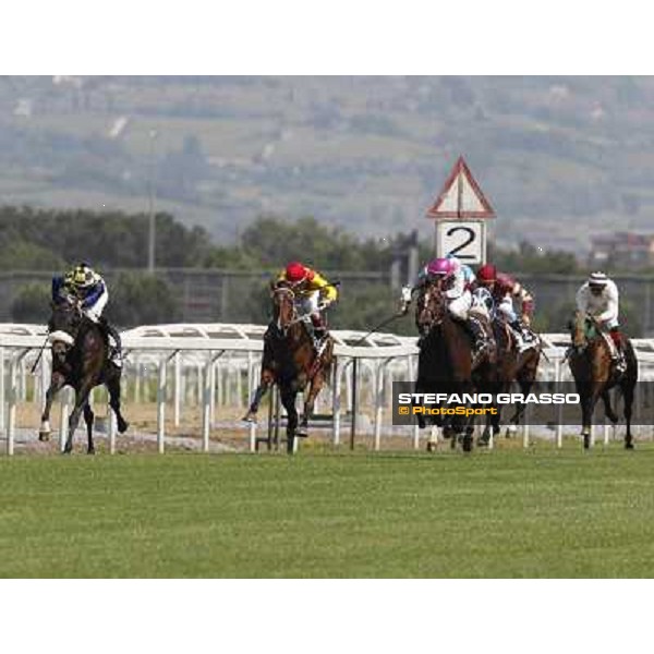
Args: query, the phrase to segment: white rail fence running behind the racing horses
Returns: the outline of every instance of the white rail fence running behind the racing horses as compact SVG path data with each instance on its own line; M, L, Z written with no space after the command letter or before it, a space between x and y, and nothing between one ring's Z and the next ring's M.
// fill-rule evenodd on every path
M261 353L265 326L258 325L158 325L138 327L122 334L126 361L123 374L123 398L129 402L156 402L156 439L159 452L166 449L167 413L178 427L182 414L198 411L201 416L202 450L209 451L211 432L230 428L242 431L252 451L261 436L256 424L220 420L222 409L243 412L258 383ZM414 337L392 334L366 336L360 331L334 331L335 366L330 387L318 397L316 413L330 408L327 427L331 441L342 441L343 427L349 420L350 443L356 433L373 436L375 450L382 448L383 435L411 438L420 447L416 425L392 426L389 420L390 390L393 380L415 378L417 348ZM45 326L0 324L0 433L7 441L7 453L14 452L16 407L28 399L38 405L45 402L50 376L49 349L29 385L29 371L46 340ZM565 334L543 335L547 360L542 362L540 378L570 379L567 365L561 365L569 337ZM651 379L654 373L654 340L634 340L640 376ZM66 420L72 402L71 392L61 393L60 444L63 445ZM344 398L343 398L344 396ZM365 407L366 411L362 411ZM343 411L344 408L344 411ZM107 425L109 451L116 451L116 424L112 412ZM372 415L372 420L368 417ZM637 415L637 419L639 416ZM385 424L386 420L386 424ZM170 421L170 417L168 419ZM170 424L170 422L168 422ZM37 425L34 426L35 432ZM604 439L608 441L608 428ZM523 444L530 443L530 428L523 427ZM562 426L556 427L555 444L562 444ZM594 435L593 435L594 440Z

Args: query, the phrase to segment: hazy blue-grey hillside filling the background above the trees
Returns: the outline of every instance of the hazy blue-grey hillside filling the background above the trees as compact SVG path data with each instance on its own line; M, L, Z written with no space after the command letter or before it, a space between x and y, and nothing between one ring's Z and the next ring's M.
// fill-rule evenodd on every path
M654 216L652 77L0 77L0 203L420 227L463 154L500 243Z

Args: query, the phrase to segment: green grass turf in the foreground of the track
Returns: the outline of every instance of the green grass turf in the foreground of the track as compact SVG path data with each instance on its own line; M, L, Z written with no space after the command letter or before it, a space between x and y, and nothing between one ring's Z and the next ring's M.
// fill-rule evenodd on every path
M652 577L654 448L0 458L0 577Z

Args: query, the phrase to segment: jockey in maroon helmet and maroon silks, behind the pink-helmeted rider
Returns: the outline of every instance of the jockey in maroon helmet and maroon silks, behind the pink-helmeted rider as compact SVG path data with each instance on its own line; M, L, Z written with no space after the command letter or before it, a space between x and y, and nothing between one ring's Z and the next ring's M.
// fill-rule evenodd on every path
M534 299L531 293L512 277L498 272L493 264L485 264L477 270L477 283L491 291L495 305L495 315L505 319L512 328L520 352L532 347L534 336L530 330L531 316L534 311ZM513 298L520 300L522 314L520 318L513 308Z

